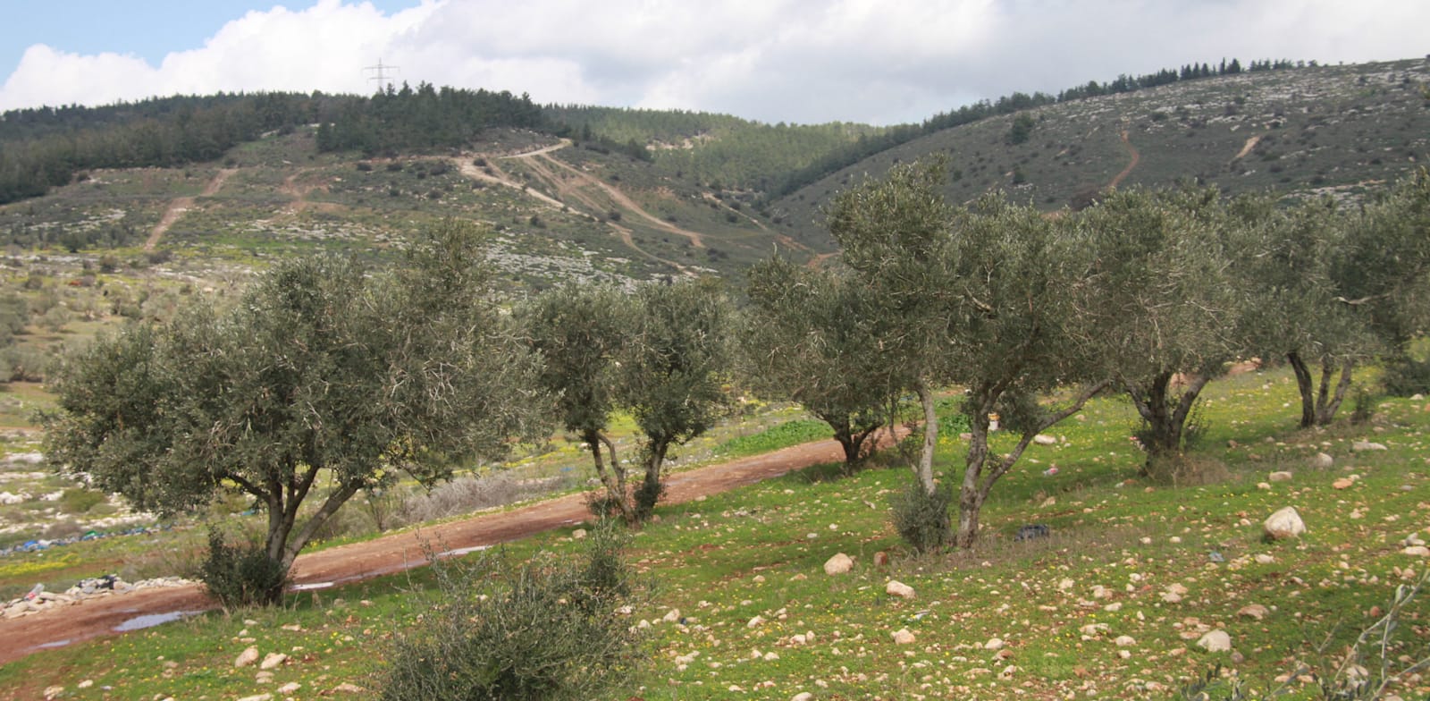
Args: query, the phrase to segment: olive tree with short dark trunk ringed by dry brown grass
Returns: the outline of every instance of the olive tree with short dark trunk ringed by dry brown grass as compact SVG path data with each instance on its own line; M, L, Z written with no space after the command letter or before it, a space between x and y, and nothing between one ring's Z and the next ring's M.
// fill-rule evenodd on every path
M1143 418L1147 471L1171 476L1207 382L1247 348L1246 229L1210 189L1120 190L1080 213L1095 235L1088 313L1100 355Z

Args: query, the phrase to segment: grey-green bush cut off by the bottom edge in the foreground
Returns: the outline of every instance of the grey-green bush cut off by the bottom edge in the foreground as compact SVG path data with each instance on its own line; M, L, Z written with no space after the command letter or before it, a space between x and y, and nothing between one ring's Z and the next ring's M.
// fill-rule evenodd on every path
M443 602L395 641L380 697L615 698L642 661L639 635L621 614L633 591L623 542L603 525L579 562L433 561Z

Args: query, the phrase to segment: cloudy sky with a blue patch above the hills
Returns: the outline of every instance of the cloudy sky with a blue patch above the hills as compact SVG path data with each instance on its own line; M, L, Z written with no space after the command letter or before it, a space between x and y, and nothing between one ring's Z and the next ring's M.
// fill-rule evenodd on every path
M918 122L1221 57L1430 52L1426 0L0 0L0 110L395 80L762 122Z

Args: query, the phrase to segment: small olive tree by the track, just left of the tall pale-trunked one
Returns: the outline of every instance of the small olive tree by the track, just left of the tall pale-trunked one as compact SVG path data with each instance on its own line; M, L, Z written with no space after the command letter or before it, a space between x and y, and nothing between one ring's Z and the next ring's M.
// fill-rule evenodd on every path
M847 272L772 258L755 265L748 280L745 382L828 423L844 449L845 471L852 471L907 383L902 368L882 352L892 330L888 316Z

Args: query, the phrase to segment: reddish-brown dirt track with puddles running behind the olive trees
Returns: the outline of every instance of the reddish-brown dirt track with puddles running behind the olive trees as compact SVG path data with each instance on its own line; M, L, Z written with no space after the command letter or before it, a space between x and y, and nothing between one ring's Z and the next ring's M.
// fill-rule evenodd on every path
M899 429L899 435L907 431ZM879 433L879 443L891 441ZM844 452L835 441L797 445L765 455L676 472L666 478L665 501L682 504L698 496L775 478L822 462L838 462ZM399 572L426 564L423 544L443 549L479 548L552 531L589 518L586 495L573 494L529 504L511 511L482 514L420 532L405 531L368 542L342 545L300 555L293 565L293 582L320 588ZM319 587L313 587L319 585ZM114 628L142 615L214 608L197 587L144 589L134 594L90 599L24 618L0 619L0 664L20 660L43 648L92 638L122 635Z

